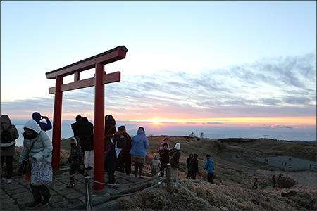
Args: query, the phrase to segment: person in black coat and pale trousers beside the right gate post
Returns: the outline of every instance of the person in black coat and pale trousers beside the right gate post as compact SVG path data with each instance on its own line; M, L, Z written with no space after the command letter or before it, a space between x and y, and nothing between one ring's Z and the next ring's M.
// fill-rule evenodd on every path
M94 167L94 125L87 117L82 117L79 138L84 151L85 168L91 170Z

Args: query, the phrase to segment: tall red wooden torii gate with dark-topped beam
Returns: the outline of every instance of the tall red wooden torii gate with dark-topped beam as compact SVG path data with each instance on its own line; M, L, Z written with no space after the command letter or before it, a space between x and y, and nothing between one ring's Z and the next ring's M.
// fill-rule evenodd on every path
M104 65L125 58L128 49L118 46L96 56L80 60L57 70L46 72L46 78L56 79L55 87L49 88L49 94L55 93L53 116L53 170L60 169L61 157L61 116L63 91L94 86L94 180L104 182L104 84L120 82L120 72L106 74ZM80 80L80 72L96 68L95 75ZM63 84L63 77L74 75L74 82ZM103 190L104 184L94 184L94 190Z

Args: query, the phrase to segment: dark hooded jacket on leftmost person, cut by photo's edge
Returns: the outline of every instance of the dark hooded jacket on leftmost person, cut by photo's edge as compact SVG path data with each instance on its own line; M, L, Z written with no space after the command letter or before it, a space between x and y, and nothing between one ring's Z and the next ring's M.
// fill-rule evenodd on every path
M11 125L11 120L8 117L8 115L1 115L1 124L4 126L4 129L8 129L8 127ZM1 133L2 133L1 128ZM18 139L19 133L18 130L14 125L11 126L11 128L8 130L10 132L13 140ZM1 148L1 156L14 156L15 155L15 144L8 148Z

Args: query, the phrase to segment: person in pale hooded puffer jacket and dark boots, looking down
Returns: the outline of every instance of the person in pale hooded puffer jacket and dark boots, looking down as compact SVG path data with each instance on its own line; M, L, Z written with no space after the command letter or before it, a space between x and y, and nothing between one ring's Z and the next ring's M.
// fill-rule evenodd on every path
M27 121L23 129L23 149L21 151L19 162L21 163L23 159L26 158L27 152L29 151L32 143L34 142L34 145L32 146L31 151L29 153L30 165L32 165L33 167L33 165L35 165L36 162L49 162L49 165L51 165L51 151L53 150L53 147L51 146L51 139L49 138L49 135L39 127L39 124L37 124L35 120ZM32 167L30 172L32 172ZM32 174L30 174L30 186L34 202L31 205L29 205L29 209L34 209L39 205L48 205L49 201L51 200L51 193L49 191L48 186L32 185L32 177L35 176L32 176ZM43 200L42 196L44 196Z

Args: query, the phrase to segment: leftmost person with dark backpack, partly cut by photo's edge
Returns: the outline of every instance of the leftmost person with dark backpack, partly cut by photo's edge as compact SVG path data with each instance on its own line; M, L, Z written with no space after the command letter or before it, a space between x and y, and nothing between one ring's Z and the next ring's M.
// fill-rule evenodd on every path
M8 132L5 132L8 131ZM4 137L3 133L8 134L8 137ZM15 155L15 139L18 139L19 133L16 127L11 124L11 120L8 115L1 115L1 169L4 165L4 160L6 160L6 179L2 177L1 171L1 182L6 181L10 184L12 182L13 174L13 156ZM4 143L5 140L10 143Z

